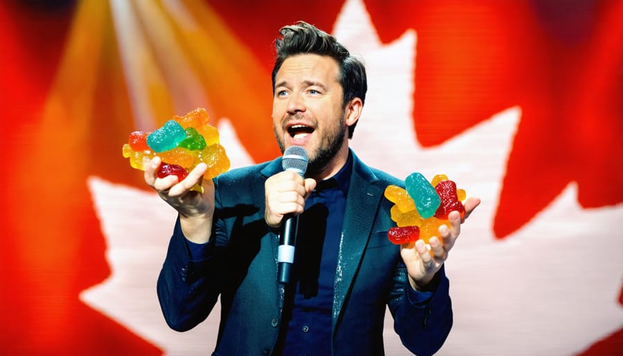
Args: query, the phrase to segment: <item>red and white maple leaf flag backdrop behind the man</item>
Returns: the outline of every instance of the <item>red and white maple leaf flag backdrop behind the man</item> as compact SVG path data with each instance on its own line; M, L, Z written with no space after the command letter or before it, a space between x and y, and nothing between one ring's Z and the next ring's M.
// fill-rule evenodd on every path
M482 199L438 354L622 355L622 19L619 0L3 1L0 355L213 350L218 310L163 321L175 212L121 147L205 107L232 166L278 157L272 45L298 20L366 63L363 161Z

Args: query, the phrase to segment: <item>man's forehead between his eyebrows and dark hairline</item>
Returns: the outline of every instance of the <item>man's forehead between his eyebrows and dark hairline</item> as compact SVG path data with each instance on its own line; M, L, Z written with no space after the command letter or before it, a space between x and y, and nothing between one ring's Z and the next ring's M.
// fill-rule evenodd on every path
M276 84L283 82L337 82L339 68L336 60L326 55L299 54L287 57L276 73Z

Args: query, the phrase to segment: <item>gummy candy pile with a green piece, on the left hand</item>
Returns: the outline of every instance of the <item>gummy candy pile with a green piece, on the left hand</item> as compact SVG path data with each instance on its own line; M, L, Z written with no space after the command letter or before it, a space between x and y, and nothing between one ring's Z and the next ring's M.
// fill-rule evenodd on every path
M159 156L162 163L156 175L177 175L179 181L203 162L208 166L204 178L212 179L226 172L230 161L219 144L218 130L208 121L206 109L199 108L184 116L174 116L154 132L132 132L123 145L123 157L129 159L132 168L145 170L143 159Z

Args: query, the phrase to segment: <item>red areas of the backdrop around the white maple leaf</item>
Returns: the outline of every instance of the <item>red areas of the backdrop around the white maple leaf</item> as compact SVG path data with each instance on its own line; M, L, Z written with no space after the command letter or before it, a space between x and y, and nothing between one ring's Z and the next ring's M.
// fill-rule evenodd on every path
M623 202L623 1L363 2L381 42L417 31L413 122L421 145L443 143L500 109L521 107L494 219L496 238L520 229L570 181L577 182L584 208ZM257 125L252 115L270 112L273 39L280 26L298 19L330 32L343 3L206 3L253 55L240 57L240 48L222 46L236 68L253 64L240 69L246 70L244 90L237 89L241 83L206 84L210 116L230 118L255 161L277 157L268 121ZM84 68L63 77L73 89L58 94L61 102L71 93L80 100L85 89L71 78L92 75L92 101L80 103L78 111L55 107L52 91L84 4L0 6L2 355L161 353L78 299L109 274L87 177L145 189L141 175L120 159L120 146L136 124L111 12L105 1L100 4L98 21L108 25L73 33L85 36L93 52ZM252 108L244 109L240 101L253 92ZM190 109L176 112L161 104L154 108L156 123ZM619 330L595 340L585 355L621 352L622 339Z

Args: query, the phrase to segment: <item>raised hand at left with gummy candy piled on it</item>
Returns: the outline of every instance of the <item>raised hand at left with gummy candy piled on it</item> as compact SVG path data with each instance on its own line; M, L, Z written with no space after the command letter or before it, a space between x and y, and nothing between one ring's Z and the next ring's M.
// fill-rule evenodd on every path
M214 213L214 183L203 179L206 164L199 163L182 181L176 175L164 178L156 176L161 164L160 157L145 163L145 183L179 213L182 232L192 242L207 242L212 231ZM196 185L203 187L203 193L192 190Z

